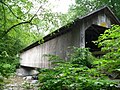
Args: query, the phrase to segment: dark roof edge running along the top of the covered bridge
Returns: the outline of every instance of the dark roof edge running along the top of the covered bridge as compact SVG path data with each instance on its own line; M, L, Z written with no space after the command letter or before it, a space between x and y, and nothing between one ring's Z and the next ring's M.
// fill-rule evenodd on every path
M62 34L63 34L63 33L65 33L65 32L67 32L68 28L70 28L70 27L68 27L68 26L73 25L73 24L75 24L76 22L79 22L80 20L82 20L82 19L84 19L84 18L87 18L87 17L89 17L89 16L91 16L91 15L93 15L93 14L96 14L96 13L102 11L102 10L104 10L107 15L111 15L111 18L112 18L113 20L115 20L115 22L116 22L117 24L120 25L119 19L115 16L115 14L111 11L111 9L110 9L109 7L105 6L105 7L102 7L102 8L100 8L100 9L97 9L96 11L93 11L92 13L89 13L89 14L83 16L83 17L79 17L79 18L75 19L74 22L69 23L69 24L61 27L60 29L56 30L56 31L53 32L53 33L57 33L57 34L58 34L58 33L62 33ZM45 37L43 38L43 40L46 42L46 41L48 41L48 40L50 40L50 39L52 39L52 38L54 38L54 37L56 37L56 36L57 36L57 35L51 36L51 34L48 34L47 36L45 36ZM27 50L35 47L35 46L38 46L38 45L40 45L40 43L41 43L41 40L36 41L35 43L33 43L33 44L27 46L26 48L22 49L22 50L20 51L20 53L22 53L22 52L24 52L24 51L27 51Z

